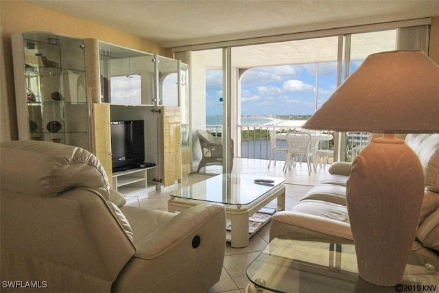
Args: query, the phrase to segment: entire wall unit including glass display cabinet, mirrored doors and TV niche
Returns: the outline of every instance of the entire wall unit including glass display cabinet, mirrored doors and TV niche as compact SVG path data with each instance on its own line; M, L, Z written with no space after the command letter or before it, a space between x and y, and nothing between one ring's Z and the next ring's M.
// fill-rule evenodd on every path
M19 139L93 152L123 193L181 178L179 60L42 32L16 34L12 47ZM145 162L156 167L112 174L110 121L123 120L144 121Z

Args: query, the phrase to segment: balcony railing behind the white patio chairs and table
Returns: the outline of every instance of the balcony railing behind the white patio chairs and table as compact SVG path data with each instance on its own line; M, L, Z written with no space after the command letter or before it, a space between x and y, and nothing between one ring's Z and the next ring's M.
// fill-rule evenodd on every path
M236 156L249 159L270 159L272 150L270 143L270 130L278 133L300 131L297 126L260 126L260 125L238 125L238 144ZM222 125L207 125L206 131L215 137L221 137ZM333 134L333 132L330 132ZM346 157L345 161L351 161L355 156L368 145L368 132L347 132L346 133ZM278 141L281 148L287 148L287 141ZM282 145L284 143L285 145ZM320 142L319 148L332 150L332 141ZM285 160L285 154L278 155L278 160Z

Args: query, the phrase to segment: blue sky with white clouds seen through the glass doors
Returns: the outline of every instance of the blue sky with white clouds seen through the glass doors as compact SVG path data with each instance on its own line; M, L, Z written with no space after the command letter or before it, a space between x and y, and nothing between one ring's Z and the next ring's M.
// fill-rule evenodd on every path
M360 61L361 62L361 61ZM351 62L351 72L360 62ZM241 79L241 115L311 115L333 93L337 62L257 67ZM206 115L222 115L222 71L206 71Z

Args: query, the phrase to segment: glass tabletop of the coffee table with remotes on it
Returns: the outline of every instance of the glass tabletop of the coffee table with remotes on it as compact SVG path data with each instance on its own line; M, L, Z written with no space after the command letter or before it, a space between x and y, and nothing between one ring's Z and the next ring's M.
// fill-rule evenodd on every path
M255 182L254 180L272 180ZM251 204L264 194L282 187L285 178L257 176L254 174L219 174L188 187L172 192L172 198L220 202L241 207Z

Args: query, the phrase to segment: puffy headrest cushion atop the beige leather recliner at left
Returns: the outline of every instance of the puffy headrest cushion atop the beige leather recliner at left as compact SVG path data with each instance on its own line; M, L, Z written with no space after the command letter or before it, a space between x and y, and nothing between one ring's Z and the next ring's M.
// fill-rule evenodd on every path
M108 200L106 172L82 148L47 141L8 141L1 143L1 157L8 157L1 162L1 172L10 174L1 176L2 190L50 197L75 187L100 188Z

